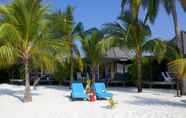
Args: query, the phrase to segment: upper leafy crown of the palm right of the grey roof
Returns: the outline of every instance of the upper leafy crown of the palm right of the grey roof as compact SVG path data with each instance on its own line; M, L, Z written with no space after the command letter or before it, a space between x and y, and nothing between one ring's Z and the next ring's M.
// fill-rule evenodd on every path
M122 12L118 19L117 22L106 24L104 28L108 36L115 37L115 46L141 48L151 34L149 26L134 18L130 11Z

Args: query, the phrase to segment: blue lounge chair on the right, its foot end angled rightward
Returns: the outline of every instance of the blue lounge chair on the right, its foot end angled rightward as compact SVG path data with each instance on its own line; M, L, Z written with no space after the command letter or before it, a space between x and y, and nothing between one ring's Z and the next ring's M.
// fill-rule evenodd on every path
M96 97L98 99L110 99L113 94L106 91L105 84L102 82L94 83L92 89L96 92Z

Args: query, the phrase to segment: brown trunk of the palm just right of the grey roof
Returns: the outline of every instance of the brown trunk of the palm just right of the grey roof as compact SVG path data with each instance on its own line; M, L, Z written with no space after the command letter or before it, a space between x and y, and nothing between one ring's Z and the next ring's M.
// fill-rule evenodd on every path
M141 64L141 52L138 51L136 54L136 63L137 63L137 89L138 93L142 92L142 82L141 82L141 72L142 72L142 64Z

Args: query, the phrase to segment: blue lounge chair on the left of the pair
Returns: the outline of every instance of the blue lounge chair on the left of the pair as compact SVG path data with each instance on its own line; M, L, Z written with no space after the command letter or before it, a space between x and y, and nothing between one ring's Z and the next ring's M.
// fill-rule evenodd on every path
M88 99L88 95L85 93L82 83L72 83L71 88L72 88L72 93L71 93L72 100L76 100L76 99L87 100Z

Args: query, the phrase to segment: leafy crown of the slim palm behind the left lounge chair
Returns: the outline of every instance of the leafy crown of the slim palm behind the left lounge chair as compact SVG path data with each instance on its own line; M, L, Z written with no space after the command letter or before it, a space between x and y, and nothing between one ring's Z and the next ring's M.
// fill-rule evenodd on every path
M81 24L75 26L73 12L74 8L68 6L64 12L59 11L48 16L50 20L49 27L55 38L67 37L68 40L73 40L73 35L79 32Z

